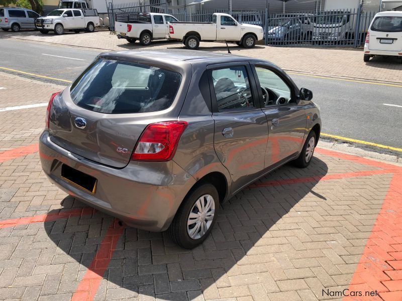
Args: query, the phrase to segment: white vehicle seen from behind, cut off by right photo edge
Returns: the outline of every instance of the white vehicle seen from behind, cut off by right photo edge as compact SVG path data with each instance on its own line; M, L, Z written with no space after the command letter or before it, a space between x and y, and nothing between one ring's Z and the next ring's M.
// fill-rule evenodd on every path
M364 61L368 62L377 55L402 59L402 12L375 15L364 44Z

